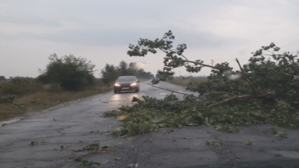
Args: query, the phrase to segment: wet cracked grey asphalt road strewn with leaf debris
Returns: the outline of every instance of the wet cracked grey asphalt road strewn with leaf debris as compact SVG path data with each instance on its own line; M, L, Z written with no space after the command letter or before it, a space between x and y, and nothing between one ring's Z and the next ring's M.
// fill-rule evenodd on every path
M267 130L274 127L270 125L240 127L240 133L223 133L205 126L184 127L173 129L169 134L149 133L125 139L101 133L111 131L120 124L113 117L101 117L104 111L131 104L133 96L163 98L170 93L146 83L141 83L139 93L114 94L110 91L34 113L0 127L0 168L74 168L80 162L69 158L82 155L86 160L103 163L99 167L111 168L126 168L130 163L138 164L139 168L195 168L221 167L219 164L222 163L240 163L241 166L235 167L246 167L251 164L248 163L250 161L270 164L274 161L283 163L283 160L288 159L292 163L299 162L298 131L275 127L288 133L288 138L276 137L268 133ZM158 86L186 92L182 87L165 82ZM225 144L205 145L210 140L223 141ZM254 144L244 145L248 140ZM98 154L73 151L92 143L112 145L114 151Z

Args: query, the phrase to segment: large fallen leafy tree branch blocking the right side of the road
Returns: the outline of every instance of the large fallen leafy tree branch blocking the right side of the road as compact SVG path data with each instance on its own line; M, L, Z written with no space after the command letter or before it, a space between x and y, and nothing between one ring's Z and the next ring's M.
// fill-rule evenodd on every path
M213 125L220 131L228 132L236 132L234 127L238 125L256 123L299 128L298 54L280 53L280 48L271 43L253 52L246 64L241 65L235 59L239 70L233 70L227 62L210 66L200 59L189 60L183 55L187 45L174 47L174 39L171 31L160 39L140 38L137 45L130 44L128 55L164 53L164 68L158 71L160 77L152 81L152 86L173 77L173 69L178 67L185 67L190 73L211 68L206 82L187 87L187 90L197 92L199 96L165 89L183 94L184 99L178 100L172 94L164 99L148 96L134 98L136 104L105 114L125 116L121 130L118 130L119 135L193 125Z

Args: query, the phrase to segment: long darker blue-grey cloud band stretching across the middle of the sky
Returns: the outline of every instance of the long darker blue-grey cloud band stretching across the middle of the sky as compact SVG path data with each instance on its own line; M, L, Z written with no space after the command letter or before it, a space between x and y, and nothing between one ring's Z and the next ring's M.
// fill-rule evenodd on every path
M163 36L169 29L143 30L66 30L54 34L46 34L42 39L69 44L83 44L93 46L117 46L136 44L139 38L155 39ZM187 32L170 28L176 36L175 45L186 43L192 47L219 47L246 43L244 39L222 38L208 32Z

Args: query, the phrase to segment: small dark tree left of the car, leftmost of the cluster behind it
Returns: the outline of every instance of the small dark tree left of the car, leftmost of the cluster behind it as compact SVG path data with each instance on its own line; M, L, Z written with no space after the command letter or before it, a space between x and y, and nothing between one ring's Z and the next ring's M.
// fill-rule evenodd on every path
M106 66L101 70L102 80L105 84L109 84L118 77L117 67L114 65L106 64Z

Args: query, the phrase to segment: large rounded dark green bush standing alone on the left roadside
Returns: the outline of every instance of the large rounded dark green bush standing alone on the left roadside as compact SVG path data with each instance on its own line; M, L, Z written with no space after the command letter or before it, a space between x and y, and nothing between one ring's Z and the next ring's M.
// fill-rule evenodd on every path
M64 89L72 91L83 90L94 84L95 65L90 60L74 55L58 57L55 53L48 58L50 62L45 70L40 70L39 80L60 84Z

